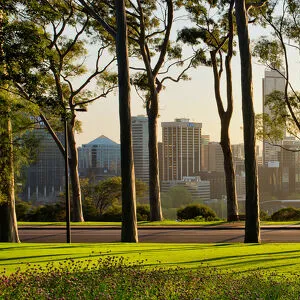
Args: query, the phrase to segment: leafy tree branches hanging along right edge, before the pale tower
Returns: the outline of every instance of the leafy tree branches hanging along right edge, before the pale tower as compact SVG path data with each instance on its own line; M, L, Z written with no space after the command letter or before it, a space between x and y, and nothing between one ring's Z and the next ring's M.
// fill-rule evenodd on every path
M300 95L293 84L290 69L295 56L299 57L300 3L293 0L269 1L266 8L260 9L260 21L270 33L257 41L254 55L285 79L284 91L275 91L267 97L272 116L260 116L260 124L264 123L261 136L276 144L276 140L283 135L283 129L299 138Z

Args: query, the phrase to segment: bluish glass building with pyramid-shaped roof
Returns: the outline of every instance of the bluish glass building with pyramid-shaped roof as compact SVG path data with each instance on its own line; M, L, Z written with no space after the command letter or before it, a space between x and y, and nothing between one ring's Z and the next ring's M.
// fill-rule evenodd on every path
M102 179L121 174L120 144L104 135L79 147L78 160L82 177Z

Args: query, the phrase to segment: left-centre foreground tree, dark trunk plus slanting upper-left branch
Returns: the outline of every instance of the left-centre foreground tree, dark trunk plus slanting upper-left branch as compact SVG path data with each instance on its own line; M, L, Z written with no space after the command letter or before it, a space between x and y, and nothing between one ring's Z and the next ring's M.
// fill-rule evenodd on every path
M98 1L78 0L85 10L109 34L116 44L118 60L118 86L119 86L119 117L121 140L121 177L122 177L122 242L138 242L136 218L136 191L132 151L131 133L131 92L128 62L128 35L126 23L126 7L124 0L115 0L115 6L105 5ZM115 14L114 20L105 17ZM116 28L115 28L116 25Z

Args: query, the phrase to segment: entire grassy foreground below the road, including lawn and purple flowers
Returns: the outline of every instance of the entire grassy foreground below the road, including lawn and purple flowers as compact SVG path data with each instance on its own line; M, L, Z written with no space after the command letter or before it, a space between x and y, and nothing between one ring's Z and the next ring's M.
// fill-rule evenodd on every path
M298 299L299 244L0 244L0 299Z

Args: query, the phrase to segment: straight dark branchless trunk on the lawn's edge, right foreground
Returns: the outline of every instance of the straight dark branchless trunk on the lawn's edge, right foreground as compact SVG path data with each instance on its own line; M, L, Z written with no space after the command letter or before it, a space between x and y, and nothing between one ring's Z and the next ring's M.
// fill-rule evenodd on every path
M242 110L246 172L245 243L260 242L259 195L255 155L255 114L253 108L252 65L245 0L235 0L241 59Z

